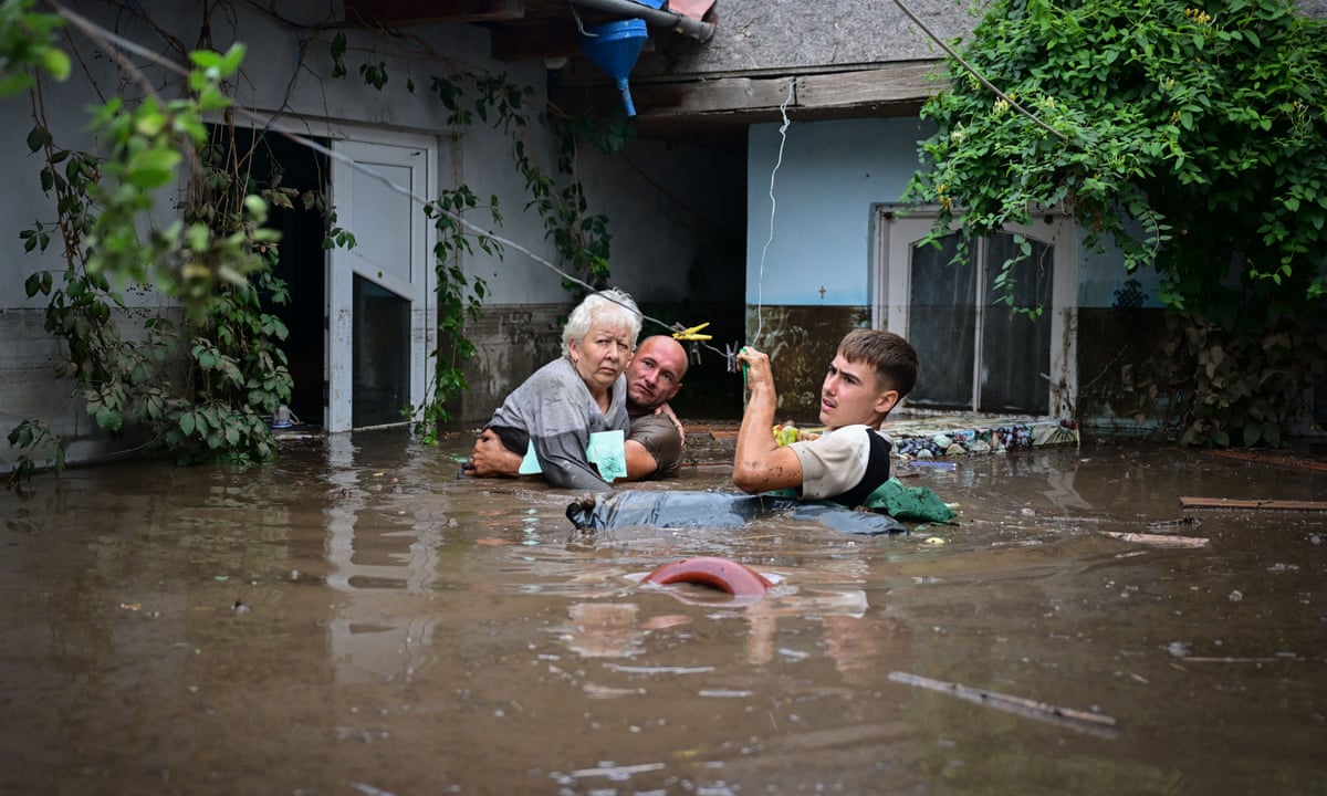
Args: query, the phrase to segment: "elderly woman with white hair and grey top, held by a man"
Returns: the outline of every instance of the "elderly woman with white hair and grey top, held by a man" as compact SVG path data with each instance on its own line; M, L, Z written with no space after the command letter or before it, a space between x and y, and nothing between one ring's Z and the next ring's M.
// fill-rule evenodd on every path
M544 479L561 488L612 487L589 460L591 434L630 430L626 371L641 333L641 312L621 291L591 293L563 328L563 356L512 390L484 427L512 452L532 450ZM463 471L472 474L472 464Z

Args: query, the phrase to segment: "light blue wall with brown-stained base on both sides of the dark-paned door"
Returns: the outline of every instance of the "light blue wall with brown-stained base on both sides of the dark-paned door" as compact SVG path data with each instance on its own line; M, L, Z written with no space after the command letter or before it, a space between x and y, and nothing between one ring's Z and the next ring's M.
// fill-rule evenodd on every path
M916 118L779 127L750 130L746 333L779 354L780 411L812 422L816 389L839 338L871 324L873 208L901 199L930 127ZM1132 422L1128 378L1148 349L1132 333L1139 324L1160 324L1158 279L1151 271L1125 273L1119 252L1109 245L1092 251L1082 239L1080 230L1072 292L1076 306L1091 312L1075 318L1071 310L1066 328L1091 345L1079 345L1071 357L1087 391L1067 411L1121 427ZM1140 302L1121 302L1125 295Z

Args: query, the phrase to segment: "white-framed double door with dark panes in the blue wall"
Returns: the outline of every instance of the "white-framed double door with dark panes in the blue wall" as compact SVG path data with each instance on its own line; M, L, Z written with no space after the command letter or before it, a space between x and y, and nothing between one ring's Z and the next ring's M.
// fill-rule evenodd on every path
M951 264L955 236L920 245L933 215L877 216L876 318L917 349L921 373L908 395L914 407L1068 417L1078 287L1074 224L1048 215L1020 228L1028 257L1011 273L1016 312L1001 297L1001 265L1016 251L1011 232L977 240Z

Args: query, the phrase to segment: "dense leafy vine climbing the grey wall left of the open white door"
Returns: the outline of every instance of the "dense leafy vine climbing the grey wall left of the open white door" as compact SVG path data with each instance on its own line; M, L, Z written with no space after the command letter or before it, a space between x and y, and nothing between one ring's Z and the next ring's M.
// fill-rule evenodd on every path
M277 236L263 228L268 204L210 158L202 121L230 105L224 81L243 54L243 46L190 53L188 97L106 102L94 114L105 158L58 146L41 81L25 81L35 119L28 146L42 155L41 186L56 220L37 220L20 237L28 252L58 240L64 268L33 273L24 287L29 297L46 297L45 328L65 341L56 375L72 381L70 398L110 436L141 434L145 446L184 463L271 459L265 418L289 399L276 345L285 329L259 298L260 291L276 300L284 292L271 276ZM186 163L180 218L141 235L138 219L151 211L154 192ZM182 316L127 306L119 285L149 283L179 298ZM126 338L119 322L133 316L142 332ZM31 478L42 460L57 472L65 466L68 440L45 419L21 421L8 439L21 451L11 480Z

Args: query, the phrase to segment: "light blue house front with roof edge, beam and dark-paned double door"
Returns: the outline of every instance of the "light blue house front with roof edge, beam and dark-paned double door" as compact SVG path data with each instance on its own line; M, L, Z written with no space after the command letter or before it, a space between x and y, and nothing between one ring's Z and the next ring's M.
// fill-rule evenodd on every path
M665 41L642 54L632 92L642 130L705 131L721 145L742 138L742 340L774 357L780 417L815 421L837 340L871 325L918 348L912 409L1133 427L1128 377L1148 353L1140 324L1160 322L1156 275L1127 275L1112 252L1083 245L1071 216L1048 212L1010 231L1034 244L1016 292L1022 305L1044 308L1034 320L990 297L1011 236L982 241L970 267L949 268L951 252L918 247L934 215L900 203L934 131L920 110L942 88L937 42L969 31L979 7L913 0L807 15L804 4L775 1L717 11L707 45ZM1121 312L1135 317L1121 324Z

